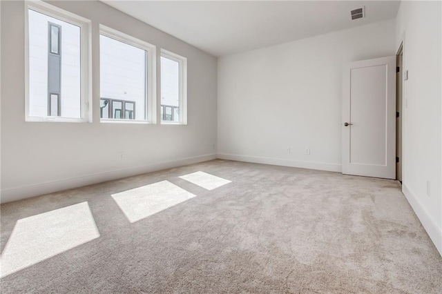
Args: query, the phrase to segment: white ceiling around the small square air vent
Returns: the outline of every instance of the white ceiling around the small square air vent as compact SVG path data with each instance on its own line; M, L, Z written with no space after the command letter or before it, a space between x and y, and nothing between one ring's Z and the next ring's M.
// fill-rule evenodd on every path
M396 17L399 1L101 0L215 56ZM350 10L365 6L365 18Z

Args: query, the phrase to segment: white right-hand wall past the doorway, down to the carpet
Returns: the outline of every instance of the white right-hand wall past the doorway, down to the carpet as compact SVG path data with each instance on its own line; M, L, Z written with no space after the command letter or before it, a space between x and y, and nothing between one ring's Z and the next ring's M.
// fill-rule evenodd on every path
M404 41L403 193L442 255L441 2L402 1L396 48ZM427 181L430 195L427 195Z

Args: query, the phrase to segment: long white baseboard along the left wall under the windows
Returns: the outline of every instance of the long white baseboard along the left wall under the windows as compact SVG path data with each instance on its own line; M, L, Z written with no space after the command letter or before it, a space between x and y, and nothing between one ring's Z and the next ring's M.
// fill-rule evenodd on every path
M60 179L52 182L7 188L1 190L0 203L12 202L38 195L54 193L61 190L108 182L114 179L122 179L124 177L131 177L133 175L141 175L143 173L151 173L157 170L164 170L166 168L175 168L177 166L185 166L187 164L196 164L198 162L208 161L216 158L216 154L213 153L197 157L177 159L173 161L164 161L156 164L148 164L146 166L135 166L133 168L124 168L122 170L111 170L104 173L95 173L84 175L81 177L73 177L70 179Z

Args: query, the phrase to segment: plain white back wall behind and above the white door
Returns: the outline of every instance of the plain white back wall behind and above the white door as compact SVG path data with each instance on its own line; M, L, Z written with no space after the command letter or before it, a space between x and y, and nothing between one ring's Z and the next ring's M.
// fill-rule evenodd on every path
M219 58L218 156L340 171L343 66L394 55L394 28L384 21Z

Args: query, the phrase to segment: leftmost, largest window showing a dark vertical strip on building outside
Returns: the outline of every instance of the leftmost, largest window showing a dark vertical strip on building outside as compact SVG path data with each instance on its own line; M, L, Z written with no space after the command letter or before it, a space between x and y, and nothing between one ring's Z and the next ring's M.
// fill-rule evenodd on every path
M90 21L28 3L26 121L88 121Z

